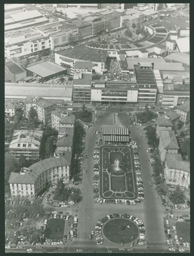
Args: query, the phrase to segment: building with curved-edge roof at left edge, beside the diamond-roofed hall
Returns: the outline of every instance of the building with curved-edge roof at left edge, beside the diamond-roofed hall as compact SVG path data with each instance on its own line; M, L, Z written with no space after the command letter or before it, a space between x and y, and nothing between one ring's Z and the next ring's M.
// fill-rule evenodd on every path
M8 61L5 62L5 81L15 83L22 78L27 76L27 72L16 62Z

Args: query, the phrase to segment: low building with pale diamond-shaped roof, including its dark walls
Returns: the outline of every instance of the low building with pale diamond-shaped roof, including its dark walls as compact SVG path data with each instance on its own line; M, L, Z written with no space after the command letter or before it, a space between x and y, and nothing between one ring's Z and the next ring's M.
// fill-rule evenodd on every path
M55 76L67 75L67 70L50 61L43 61L26 67L28 76L39 76L41 81L47 81Z

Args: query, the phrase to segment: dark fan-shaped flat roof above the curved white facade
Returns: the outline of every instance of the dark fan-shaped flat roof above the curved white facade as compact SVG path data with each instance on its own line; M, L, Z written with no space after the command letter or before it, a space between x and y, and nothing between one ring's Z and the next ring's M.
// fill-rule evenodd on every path
M107 51L80 46L75 49L69 48L56 52L64 57L80 61L105 62Z

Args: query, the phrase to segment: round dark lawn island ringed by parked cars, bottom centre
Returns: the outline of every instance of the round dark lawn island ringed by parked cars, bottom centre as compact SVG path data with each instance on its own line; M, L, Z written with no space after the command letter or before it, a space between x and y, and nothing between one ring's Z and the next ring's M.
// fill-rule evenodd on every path
M133 221L115 218L104 225L103 233L113 243L128 244L138 237L139 228Z

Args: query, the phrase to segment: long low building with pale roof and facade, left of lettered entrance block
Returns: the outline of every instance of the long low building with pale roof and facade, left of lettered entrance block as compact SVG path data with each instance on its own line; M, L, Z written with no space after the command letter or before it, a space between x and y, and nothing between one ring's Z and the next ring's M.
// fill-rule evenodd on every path
M42 97L59 103L72 101L73 86L66 84L5 83L6 101L25 102L26 97Z

